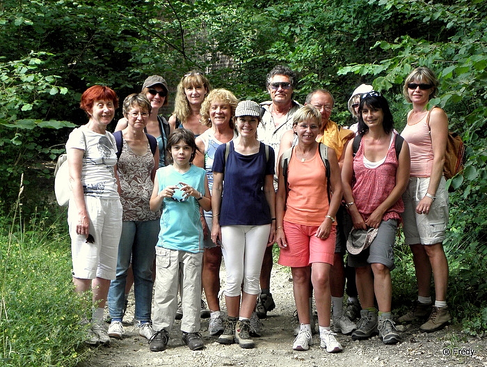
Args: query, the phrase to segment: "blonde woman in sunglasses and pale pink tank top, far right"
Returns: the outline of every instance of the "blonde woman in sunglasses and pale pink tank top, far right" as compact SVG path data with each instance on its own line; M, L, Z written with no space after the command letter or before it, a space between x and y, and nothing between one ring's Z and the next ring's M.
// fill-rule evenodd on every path
M420 327L424 332L442 329L451 320L446 301L448 261L443 250L448 223L448 192L443 177L448 118L440 108L427 109L437 92L438 79L429 68L416 68L404 82L404 97L413 103L401 133L411 150L410 180L403 196L404 242L413 251L418 297L399 322L424 321L429 316Z

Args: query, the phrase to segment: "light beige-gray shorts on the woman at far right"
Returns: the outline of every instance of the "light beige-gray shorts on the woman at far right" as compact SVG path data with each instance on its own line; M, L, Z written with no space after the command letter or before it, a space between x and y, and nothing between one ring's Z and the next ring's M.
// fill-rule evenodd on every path
M442 177L436 200L431 204L428 214L417 214L416 207L428 189L429 177L409 179L408 188L404 192L404 243L405 244L437 244L445 240L448 223L448 192L446 181Z

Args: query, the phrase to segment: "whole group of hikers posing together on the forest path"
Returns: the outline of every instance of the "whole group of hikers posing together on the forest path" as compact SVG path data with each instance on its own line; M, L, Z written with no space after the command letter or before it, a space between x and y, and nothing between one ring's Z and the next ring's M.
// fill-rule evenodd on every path
M337 332L398 343L390 271L400 224L413 252L418 299L398 321L425 320L426 332L450 321L442 247L448 120L442 109L427 109L438 91L434 73L420 67L406 78L404 96L413 109L401 135L388 101L372 86L353 92L349 109L358 122L350 129L330 120L329 91L312 91L304 106L296 102L296 75L286 66L269 72L266 87L271 100L239 102L230 91L212 90L201 72L189 72L167 121L158 111L168 86L152 75L141 93L125 98L114 134L106 127L118 107L115 92L92 86L83 93L88 123L66 143L67 221L75 290L93 292L88 344L122 338L133 279L135 320L150 350L166 349L178 294L182 341L191 350L204 348L203 290L209 334L218 343L254 348L259 318L276 307L273 244L278 263L292 269L300 324L294 350L312 345L313 293L327 352L342 351ZM218 300L222 258L226 320Z

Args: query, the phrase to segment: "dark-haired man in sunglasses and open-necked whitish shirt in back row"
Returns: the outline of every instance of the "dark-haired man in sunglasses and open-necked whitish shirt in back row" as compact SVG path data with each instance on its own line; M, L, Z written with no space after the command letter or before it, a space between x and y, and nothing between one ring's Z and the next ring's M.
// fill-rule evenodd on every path
M257 139L279 151L282 136L292 129L292 118L301 104L292 99L296 86L296 73L284 65L277 65L267 74L266 87L271 100L262 102L262 119L257 127ZM278 159L276 159L278 162ZM277 171L276 171L277 172ZM274 188L277 189L277 176L274 175ZM260 295L257 299L257 316L266 318L276 304L270 292L272 270L272 246L267 247L260 272Z

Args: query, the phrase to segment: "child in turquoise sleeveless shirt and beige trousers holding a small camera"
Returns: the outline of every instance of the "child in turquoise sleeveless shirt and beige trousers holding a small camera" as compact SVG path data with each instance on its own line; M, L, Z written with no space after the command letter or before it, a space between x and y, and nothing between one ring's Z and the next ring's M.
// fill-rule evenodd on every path
M191 350L204 347L199 333L203 257L200 206L211 210L211 196L205 170L191 163L197 149L190 130L176 129L170 134L167 150L173 163L157 170L150 198L151 210L162 206L152 320L156 332L149 341L152 352L166 349L179 288L182 341Z

